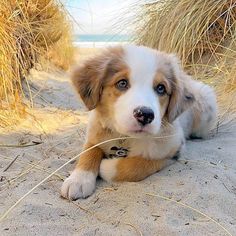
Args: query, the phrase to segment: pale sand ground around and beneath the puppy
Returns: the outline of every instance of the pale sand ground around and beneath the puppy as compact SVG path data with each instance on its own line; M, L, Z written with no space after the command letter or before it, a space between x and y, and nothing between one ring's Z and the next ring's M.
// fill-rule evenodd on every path
M68 74L32 71L29 83L31 115L0 133L1 216L84 140L88 114ZM6 216L0 235L236 235L235 141L236 123L221 126L208 140L188 141L180 161L144 181L98 180L91 197L75 202L60 198L70 163Z

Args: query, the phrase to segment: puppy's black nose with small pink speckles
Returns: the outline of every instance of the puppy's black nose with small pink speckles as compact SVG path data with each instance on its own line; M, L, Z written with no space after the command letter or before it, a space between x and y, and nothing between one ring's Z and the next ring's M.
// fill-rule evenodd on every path
M149 107L137 107L134 109L135 119L144 125L150 124L154 120L154 112Z

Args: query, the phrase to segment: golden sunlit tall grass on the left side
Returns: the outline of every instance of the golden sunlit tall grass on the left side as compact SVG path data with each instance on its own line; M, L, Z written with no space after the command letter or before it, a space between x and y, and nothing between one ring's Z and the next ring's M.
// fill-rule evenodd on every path
M7 0L0 4L0 126L25 114L22 80L42 58L68 67L70 23L56 0Z

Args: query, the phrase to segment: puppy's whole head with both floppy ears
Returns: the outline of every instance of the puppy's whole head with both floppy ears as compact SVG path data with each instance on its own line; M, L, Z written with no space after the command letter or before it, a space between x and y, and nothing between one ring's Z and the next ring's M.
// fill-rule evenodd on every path
M156 135L188 109L194 96L175 56L139 46L110 48L72 76L89 110L125 135Z

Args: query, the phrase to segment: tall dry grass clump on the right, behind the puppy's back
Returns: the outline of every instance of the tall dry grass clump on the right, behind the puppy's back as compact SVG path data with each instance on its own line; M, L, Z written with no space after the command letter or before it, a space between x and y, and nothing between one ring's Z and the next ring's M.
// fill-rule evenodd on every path
M236 105L236 1L160 0L138 9L136 42L176 53L196 79L215 87L221 114Z

